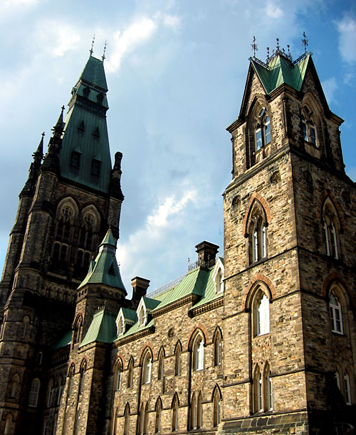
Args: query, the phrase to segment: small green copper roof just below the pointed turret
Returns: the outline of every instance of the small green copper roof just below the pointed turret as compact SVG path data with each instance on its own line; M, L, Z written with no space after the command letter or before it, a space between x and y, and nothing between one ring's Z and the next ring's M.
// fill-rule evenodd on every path
M80 348L95 341L103 343L112 343L117 336L116 331L116 313L106 311L105 308L95 313L93 320L90 323L88 332L85 334L83 341L80 343Z

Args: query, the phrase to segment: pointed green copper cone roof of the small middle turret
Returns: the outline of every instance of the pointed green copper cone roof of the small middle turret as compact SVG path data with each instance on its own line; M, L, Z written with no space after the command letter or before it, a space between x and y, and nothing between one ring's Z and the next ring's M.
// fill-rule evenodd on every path
M115 252L115 240L112 236L112 231L109 229L103 242L100 244L98 255L95 260L91 262L88 274L80 283L78 289L86 284L105 284L115 287L116 289L122 289L126 294Z

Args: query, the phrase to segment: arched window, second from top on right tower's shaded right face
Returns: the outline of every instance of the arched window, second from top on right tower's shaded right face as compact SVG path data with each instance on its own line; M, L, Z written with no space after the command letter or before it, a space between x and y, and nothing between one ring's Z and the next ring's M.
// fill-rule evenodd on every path
M323 205L323 228L325 241L325 254L333 258L340 258L340 219L335 205L330 197L326 198Z

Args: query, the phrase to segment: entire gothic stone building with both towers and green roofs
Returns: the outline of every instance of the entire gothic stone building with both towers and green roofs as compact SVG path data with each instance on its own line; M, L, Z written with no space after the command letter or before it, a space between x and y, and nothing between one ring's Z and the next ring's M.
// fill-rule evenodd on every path
M103 62L33 154L1 281L0 433L353 434L355 184L310 53L251 58L224 257L132 299ZM228 168L226 168L226 171Z

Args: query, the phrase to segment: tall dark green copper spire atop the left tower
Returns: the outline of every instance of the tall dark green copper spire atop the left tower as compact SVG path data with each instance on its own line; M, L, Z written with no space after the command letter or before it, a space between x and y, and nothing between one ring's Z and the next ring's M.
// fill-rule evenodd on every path
M91 54L72 90L61 149L61 176L108 193L111 177L103 60Z

